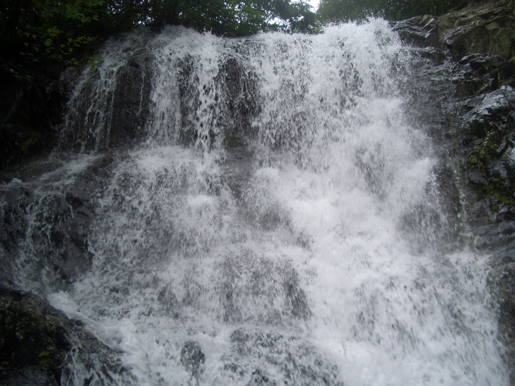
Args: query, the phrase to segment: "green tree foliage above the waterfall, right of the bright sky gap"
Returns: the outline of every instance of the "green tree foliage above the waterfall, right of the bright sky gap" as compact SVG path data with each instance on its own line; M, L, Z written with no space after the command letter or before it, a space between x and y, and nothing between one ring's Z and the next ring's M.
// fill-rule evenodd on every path
M388 20L439 15L459 6L466 0L320 0L319 20L323 23L361 21L369 16Z

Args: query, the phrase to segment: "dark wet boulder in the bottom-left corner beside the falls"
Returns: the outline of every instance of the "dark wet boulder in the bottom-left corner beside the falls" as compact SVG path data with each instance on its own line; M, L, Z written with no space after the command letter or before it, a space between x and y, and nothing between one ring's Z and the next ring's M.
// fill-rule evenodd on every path
M95 384L99 374L127 379L118 354L41 297L0 288L1 386Z

